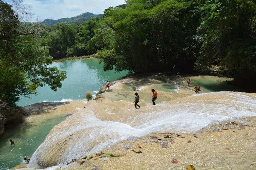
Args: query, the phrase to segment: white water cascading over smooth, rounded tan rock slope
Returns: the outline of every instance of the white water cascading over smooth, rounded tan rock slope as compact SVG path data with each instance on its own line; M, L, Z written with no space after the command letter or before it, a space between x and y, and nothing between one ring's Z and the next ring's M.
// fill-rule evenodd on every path
M122 118L100 120L93 109L81 110L68 117L56 125L38 147L30 167L65 164L119 141L156 131L193 132L213 122L256 116L256 97L239 92L204 93L156 106L148 104L136 110L138 114L135 116L130 114L135 112L133 107L128 102L125 106L117 106L117 109L123 110L125 121ZM101 114L109 113L103 109ZM115 114L112 115L115 117Z

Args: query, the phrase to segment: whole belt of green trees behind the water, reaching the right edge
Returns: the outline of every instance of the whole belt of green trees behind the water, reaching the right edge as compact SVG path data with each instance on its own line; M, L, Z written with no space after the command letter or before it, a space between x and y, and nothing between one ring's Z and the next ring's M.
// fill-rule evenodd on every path
M256 77L255 0L127 0L83 24L47 27L53 59L98 53L104 70ZM215 67L216 68L216 67Z

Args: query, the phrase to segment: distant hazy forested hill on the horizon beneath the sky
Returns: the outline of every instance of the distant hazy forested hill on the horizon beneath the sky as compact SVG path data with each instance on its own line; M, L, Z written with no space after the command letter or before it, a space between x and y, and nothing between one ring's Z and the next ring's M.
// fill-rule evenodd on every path
M83 13L81 15L78 15L76 17L71 17L71 18L61 18L58 20L52 20L52 19L46 19L42 22L42 24L46 26L51 26L55 25L57 23L84 23L94 17L102 17L103 14L93 14L90 12Z

